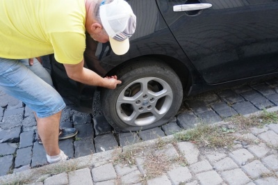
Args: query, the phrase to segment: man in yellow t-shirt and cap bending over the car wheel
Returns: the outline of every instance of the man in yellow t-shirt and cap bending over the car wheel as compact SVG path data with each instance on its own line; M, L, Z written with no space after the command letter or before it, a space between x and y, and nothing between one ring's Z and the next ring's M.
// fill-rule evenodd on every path
M71 79L114 89L121 83L116 76L103 78L83 67L85 31L98 42L110 41L115 54L125 54L136 16L123 0L2 0L0 17L0 88L35 112L47 162L65 161L58 146L65 103L20 59L54 53Z

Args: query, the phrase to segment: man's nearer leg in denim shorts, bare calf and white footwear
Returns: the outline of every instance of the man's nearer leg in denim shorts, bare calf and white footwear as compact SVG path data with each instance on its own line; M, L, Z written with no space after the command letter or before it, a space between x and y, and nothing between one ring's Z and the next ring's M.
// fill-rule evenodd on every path
M0 58L0 88L35 111L47 161L66 160L67 156L58 147L60 113L65 108L65 102L57 91L18 60L5 58Z

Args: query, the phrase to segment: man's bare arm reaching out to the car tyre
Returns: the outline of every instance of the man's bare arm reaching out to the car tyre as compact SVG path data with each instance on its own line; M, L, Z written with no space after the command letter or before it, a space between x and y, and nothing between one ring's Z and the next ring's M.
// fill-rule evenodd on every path
M117 84L122 83L122 81L117 80L117 76L112 77L100 77L99 74L88 70L83 67L84 61L78 64L64 64L67 76L74 81L79 81L81 83L88 84L90 86L101 86L104 88L116 88Z

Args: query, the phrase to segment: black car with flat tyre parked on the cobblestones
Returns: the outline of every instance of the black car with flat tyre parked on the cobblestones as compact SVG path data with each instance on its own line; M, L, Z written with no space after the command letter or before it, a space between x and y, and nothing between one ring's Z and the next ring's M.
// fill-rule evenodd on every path
M277 75L278 0L130 0L137 17L131 47L113 54L109 42L87 37L85 67L122 80L101 90L106 120L118 131L158 127L183 97L231 83ZM96 87L72 81L51 61L58 92L90 112Z

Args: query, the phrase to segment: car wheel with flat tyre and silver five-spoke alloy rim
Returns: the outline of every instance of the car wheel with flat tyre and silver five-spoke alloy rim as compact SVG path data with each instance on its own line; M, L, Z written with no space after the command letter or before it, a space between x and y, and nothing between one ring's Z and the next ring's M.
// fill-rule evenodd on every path
M138 61L117 72L122 84L101 91L106 120L117 131L139 131L169 122L181 106L183 88L164 63Z

